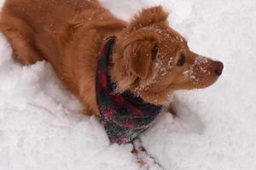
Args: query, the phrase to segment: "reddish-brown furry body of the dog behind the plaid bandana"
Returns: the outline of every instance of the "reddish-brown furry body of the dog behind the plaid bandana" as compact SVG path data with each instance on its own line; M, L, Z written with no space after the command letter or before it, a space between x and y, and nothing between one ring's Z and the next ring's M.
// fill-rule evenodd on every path
M90 113L98 112L95 73L103 39L124 27L96 0L7 0L0 20L14 59L25 65L48 60Z

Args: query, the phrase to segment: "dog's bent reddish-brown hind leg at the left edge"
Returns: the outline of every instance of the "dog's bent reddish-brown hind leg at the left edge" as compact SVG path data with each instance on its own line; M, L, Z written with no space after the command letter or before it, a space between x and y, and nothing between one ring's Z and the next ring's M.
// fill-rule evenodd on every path
M43 57L32 42L32 30L19 19L9 17L1 21L0 29L13 48L13 58L23 65L31 65Z

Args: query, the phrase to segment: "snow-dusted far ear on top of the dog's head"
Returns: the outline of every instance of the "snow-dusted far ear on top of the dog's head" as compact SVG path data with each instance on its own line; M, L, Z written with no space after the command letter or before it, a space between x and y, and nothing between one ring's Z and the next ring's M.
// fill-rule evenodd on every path
M144 8L133 16L128 31L135 30L143 26L152 26L160 23L167 24L168 13L161 6Z

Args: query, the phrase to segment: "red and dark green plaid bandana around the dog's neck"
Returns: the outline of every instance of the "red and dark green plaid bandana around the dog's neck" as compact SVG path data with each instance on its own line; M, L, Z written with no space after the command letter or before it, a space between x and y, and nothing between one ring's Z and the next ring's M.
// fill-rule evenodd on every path
M140 97L125 91L114 94L116 84L111 82L108 68L112 64L112 48L115 42L110 37L102 49L96 70L96 101L100 119L111 143L125 144L137 138L150 127L162 111L161 105L149 104Z

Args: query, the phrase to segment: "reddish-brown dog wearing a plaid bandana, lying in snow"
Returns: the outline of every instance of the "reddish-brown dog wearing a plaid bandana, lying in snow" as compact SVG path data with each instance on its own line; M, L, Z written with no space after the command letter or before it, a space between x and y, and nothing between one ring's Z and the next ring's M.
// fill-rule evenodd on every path
M167 17L161 6L143 8L125 22L96 0L7 0L0 30L15 60L23 65L47 60L64 86L86 105L84 112L100 117L110 139L114 137L111 141L122 144L170 107L174 91L207 88L223 72L222 62L192 52ZM112 84L110 91L106 83ZM133 113L123 108L126 97L130 103L143 103L140 111L131 110L137 111L132 118L136 123L128 117ZM113 103L106 105L108 99ZM126 126L128 139L115 139L125 131L108 119L113 116L108 107L115 105L121 105L121 112L115 109L116 120ZM149 108L146 113L144 108ZM138 118L143 114L147 119ZM133 124L139 130L130 131Z

